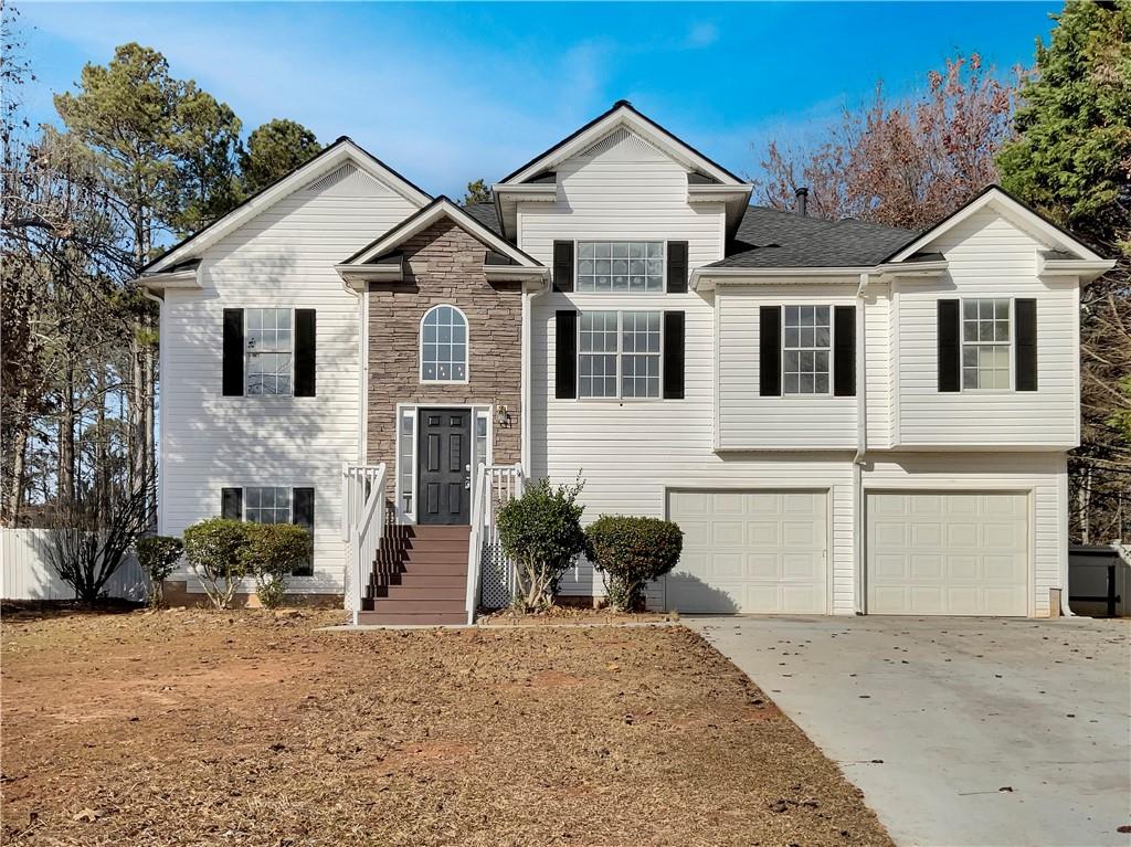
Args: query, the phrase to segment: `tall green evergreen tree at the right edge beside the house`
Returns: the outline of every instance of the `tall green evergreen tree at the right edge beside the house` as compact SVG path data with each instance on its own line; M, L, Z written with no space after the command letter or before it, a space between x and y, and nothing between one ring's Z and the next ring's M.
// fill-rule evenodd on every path
M1069 2L1020 88L1002 184L1116 268L1080 294L1081 438L1069 459L1072 536L1131 527L1131 0Z

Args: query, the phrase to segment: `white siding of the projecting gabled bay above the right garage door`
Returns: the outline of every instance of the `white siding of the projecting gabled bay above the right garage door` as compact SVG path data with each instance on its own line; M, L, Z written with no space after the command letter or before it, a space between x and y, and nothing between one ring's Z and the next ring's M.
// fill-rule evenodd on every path
M898 279L891 352L897 372L896 441L903 449L1022 447L1068 450L1079 441L1079 289L1036 276L1037 241L992 208L930 248L949 263L944 284ZM938 301L1037 301L1036 391L939 391ZM1012 327L1010 328L1012 337ZM1010 366L1012 352L1005 354Z

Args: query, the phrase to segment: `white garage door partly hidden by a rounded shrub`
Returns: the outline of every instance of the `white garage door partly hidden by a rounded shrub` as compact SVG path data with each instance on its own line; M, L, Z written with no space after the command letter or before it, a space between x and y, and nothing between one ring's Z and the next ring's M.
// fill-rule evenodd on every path
M828 611L827 494L673 491L668 516L683 555L667 576L680 612Z

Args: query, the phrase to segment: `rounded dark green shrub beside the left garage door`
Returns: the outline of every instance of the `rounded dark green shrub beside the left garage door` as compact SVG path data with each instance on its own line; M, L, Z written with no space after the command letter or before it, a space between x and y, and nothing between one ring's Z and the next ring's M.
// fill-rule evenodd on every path
M644 605L645 585L675 567L683 530L670 520L603 515L585 530L586 553L605 579L613 608L634 612Z

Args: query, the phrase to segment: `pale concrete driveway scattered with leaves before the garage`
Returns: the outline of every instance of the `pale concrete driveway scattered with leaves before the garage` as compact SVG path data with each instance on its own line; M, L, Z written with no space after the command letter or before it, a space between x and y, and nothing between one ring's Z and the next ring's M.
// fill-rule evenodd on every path
M1125 621L684 617L900 845L1131 845Z

